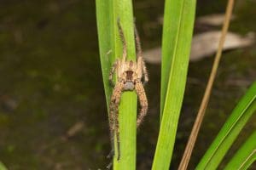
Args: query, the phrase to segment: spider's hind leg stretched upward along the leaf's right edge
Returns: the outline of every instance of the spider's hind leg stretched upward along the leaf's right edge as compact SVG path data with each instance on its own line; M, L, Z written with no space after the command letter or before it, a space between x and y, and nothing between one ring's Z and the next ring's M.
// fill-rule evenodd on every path
M148 71L145 65L145 61L143 59L143 50L140 41L140 37L137 31L137 27L134 24L134 33L135 33L135 41L136 41L136 49L137 49L137 63L140 69L142 69L143 73L143 84L148 82Z

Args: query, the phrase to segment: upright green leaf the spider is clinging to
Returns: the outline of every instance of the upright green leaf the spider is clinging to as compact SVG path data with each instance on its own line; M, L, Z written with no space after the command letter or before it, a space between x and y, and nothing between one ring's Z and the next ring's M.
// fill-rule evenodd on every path
M136 59L131 0L96 0L96 18L103 83L109 106L113 89L108 75L115 59L122 56L123 48L117 28L118 19L125 34L127 59ZM115 156L113 169L132 170L136 167L136 119L137 95L125 92L119 104L120 160L117 161Z

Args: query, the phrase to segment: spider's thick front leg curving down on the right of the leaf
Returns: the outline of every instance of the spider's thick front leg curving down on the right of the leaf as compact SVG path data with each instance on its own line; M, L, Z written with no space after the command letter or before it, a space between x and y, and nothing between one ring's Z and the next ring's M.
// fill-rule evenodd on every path
M137 117L137 127L140 126L140 124L143 122L143 118L144 116L147 115L147 111L148 111L148 99L147 96L145 94L145 90L143 88L143 84L141 81L137 80L136 84L135 84L135 90L137 93L137 96L139 98L140 101L140 105L141 105L141 111Z

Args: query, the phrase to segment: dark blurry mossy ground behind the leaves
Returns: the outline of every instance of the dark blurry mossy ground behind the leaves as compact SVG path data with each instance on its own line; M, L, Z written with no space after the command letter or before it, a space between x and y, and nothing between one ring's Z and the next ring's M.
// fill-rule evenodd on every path
M224 13L226 1L199 0L196 18ZM256 31L256 2L236 1L230 30ZM104 169L109 160L108 113L96 34L95 2L0 1L0 161L10 170ZM134 1L143 49L160 46L164 1ZM195 33L219 30L195 25ZM189 64L172 157L177 168L211 70L212 58ZM238 99L256 77L256 45L224 53L199 139L193 169ZM149 65L148 116L137 134L137 169L150 169L159 130L160 65ZM224 163L255 130L255 116ZM67 131L84 123L69 139Z

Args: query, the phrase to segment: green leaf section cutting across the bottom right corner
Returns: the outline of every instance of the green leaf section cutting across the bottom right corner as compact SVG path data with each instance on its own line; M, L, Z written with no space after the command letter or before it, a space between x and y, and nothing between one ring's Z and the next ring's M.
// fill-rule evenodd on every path
M256 131L241 145L236 155L230 160L225 170L229 169L247 169L256 161Z

